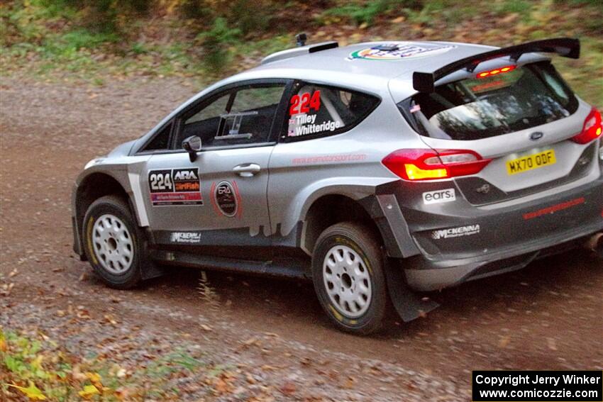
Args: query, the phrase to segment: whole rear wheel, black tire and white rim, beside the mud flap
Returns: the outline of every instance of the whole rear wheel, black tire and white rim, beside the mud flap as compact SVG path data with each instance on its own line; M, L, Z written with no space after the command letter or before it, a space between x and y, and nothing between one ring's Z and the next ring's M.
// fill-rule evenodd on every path
M380 242L358 223L323 231L312 256L314 289L338 328L367 335L379 330L387 311L387 286Z

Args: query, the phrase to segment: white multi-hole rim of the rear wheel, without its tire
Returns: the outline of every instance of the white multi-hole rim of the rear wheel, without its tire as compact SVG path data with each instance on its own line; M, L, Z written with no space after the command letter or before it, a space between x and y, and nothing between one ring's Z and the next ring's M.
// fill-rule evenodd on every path
M362 316L370 306L370 275L363 259L345 245L328 250L323 262L323 279L333 306L348 318Z

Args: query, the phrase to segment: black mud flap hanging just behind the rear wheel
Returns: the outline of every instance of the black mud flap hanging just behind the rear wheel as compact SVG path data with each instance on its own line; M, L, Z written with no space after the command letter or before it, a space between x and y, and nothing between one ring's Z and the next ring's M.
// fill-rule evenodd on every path
M402 269L394 264L385 264L385 279L389 298L396 312L407 323L435 310L440 305L433 300L421 298L406 285Z

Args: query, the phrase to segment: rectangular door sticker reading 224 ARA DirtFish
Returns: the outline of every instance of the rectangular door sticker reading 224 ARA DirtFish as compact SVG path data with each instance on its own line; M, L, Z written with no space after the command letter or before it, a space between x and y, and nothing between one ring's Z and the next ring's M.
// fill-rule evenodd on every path
M149 191L153 206L203 205L198 167L151 170Z

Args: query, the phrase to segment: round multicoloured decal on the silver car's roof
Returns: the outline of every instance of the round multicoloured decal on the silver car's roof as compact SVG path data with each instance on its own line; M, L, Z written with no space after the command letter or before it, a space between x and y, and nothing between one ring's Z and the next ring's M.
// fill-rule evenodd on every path
M411 57L433 56L448 52L453 48L456 48L456 46L430 44L419 46L409 42L390 42L372 48L356 50L350 53L348 60L403 60Z

